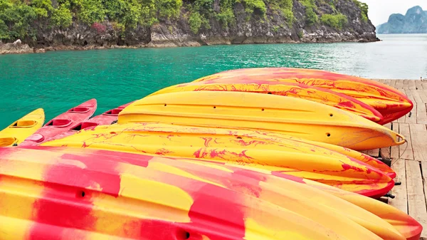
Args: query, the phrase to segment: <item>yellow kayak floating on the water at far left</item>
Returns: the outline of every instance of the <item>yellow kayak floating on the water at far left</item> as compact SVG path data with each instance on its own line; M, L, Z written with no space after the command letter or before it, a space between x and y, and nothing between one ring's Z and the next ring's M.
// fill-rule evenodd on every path
M17 145L38 130L45 120L42 108L33 110L0 131L0 147Z

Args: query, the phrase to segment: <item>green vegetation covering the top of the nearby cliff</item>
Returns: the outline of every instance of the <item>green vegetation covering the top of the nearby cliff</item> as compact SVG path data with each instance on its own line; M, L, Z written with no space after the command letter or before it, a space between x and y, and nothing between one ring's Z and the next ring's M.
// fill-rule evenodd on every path
M36 31L46 28L68 28L73 23L91 26L98 33L106 31L105 21L120 35L137 26L152 26L169 19L184 19L193 33L209 30L212 19L222 28L235 26L238 16L245 21L270 21L281 16L280 23L272 26L277 32L284 25L292 28L295 6L304 6L305 24L327 24L341 29L347 17L337 11L339 0L0 0L0 40L36 38ZM354 3L367 21L368 7L357 0ZM244 11L236 9L241 4ZM334 14L324 14L320 4L329 4ZM267 17L267 14L270 17ZM284 22L283 22L284 21Z

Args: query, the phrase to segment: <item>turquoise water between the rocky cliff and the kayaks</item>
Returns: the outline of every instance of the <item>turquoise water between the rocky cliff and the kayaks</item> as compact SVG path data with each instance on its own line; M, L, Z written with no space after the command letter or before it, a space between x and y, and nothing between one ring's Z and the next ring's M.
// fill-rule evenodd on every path
M317 68L367 78L427 78L427 35L316 43L56 51L0 56L0 129L35 108L46 121L90 98L99 114L177 83L235 68Z

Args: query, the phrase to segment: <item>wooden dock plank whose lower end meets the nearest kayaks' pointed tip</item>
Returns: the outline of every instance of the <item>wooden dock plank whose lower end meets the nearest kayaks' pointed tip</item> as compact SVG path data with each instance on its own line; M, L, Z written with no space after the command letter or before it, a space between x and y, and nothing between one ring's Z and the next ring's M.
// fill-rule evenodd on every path
M424 197L423 179L420 164L417 161L406 161L406 192L408 194L408 214L427 229L426 198ZM421 233L427 237L427 231Z

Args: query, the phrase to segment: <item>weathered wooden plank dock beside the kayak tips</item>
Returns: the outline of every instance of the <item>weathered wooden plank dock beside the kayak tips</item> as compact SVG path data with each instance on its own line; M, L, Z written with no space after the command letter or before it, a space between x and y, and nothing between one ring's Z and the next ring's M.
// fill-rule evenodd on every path
M407 144L369 150L365 153L391 160L396 182L388 199L392 206L406 212L423 225L421 239L427 240L427 80L376 80L405 93L413 102L408 115L385 125L399 132Z

